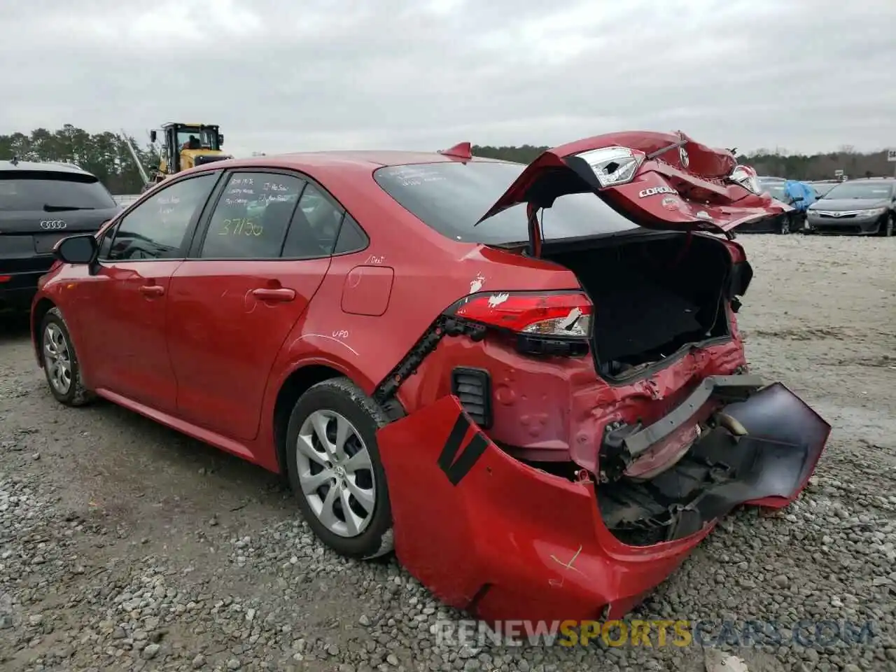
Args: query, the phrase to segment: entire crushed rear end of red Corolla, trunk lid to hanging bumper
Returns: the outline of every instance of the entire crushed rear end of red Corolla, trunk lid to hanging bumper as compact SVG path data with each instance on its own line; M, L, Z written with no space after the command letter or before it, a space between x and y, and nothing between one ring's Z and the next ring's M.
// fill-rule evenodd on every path
M538 211L587 192L659 231L543 240ZM725 152L634 133L545 152L483 220L521 203L530 256L579 288L471 291L387 379L452 376L378 433L395 550L487 622L624 616L732 509L793 501L823 452L828 423L746 372L752 270L707 235L787 206Z

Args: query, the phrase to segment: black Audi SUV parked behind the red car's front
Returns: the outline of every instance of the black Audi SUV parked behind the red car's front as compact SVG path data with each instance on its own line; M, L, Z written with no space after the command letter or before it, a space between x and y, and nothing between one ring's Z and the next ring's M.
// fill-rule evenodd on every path
M56 241L96 231L120 210L99 179L77 166L0 161L0 308L30 307Z

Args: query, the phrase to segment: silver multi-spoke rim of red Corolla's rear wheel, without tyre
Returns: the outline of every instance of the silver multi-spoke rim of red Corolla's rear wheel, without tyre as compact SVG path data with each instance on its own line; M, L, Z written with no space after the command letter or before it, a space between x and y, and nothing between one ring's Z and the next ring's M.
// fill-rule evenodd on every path
M315 410L298 431L298 482L323 526L357 537L370 524L376 484L370 453L358 429L333 410Z

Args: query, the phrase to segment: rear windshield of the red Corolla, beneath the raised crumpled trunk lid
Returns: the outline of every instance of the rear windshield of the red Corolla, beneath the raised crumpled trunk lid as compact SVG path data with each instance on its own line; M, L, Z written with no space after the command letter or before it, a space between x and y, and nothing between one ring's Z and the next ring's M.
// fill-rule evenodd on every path
M418 220L454 240L486 245L529 239L526 206L514 206L473 225L520 176L520 163L470 161L388 166L374 173L378 185ZM548 240L637 228L594 194L558 198L543 214Z

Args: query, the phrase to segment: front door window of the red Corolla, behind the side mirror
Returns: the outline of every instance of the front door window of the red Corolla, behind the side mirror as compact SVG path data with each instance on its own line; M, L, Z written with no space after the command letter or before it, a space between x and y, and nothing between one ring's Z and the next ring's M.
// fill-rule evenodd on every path
M190 222L217 180L206 173L167 186L118 222L108 261L177 259Z

